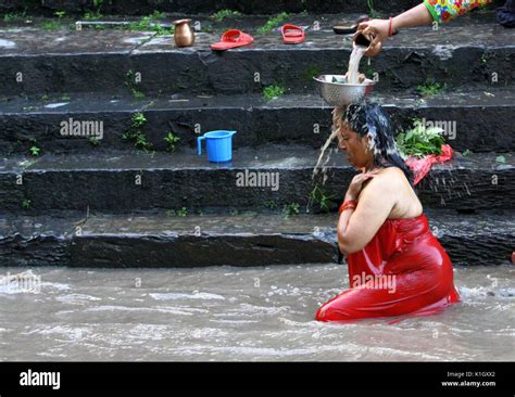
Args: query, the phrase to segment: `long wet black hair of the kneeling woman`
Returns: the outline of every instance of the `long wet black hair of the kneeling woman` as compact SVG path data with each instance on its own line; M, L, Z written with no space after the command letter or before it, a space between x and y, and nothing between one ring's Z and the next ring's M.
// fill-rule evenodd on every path
M374 165L402 169L414 188L413 172L399 153L390 118L380 105L367 102L350 104L342 112L342 120L349 123L350 129L360 137L368 137Z

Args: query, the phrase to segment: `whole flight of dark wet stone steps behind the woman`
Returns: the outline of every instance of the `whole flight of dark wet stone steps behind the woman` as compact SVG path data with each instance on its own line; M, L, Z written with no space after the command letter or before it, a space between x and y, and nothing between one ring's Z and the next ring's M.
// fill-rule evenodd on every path
M18 10L18 2L10 3L9 12ZM351 38L334 35L331 26L355 21L356 12L369 11L366 2L305 1L305 11L290 1L130 2L128 14L167 12L163 25L204 13L188 15L202 30L186 49L150 30L77 31L77 18L39 27L45 20L37 15L73 14L81 10L77 3L46 1L30 10L36 23L1 25L1 265L335 261L336 209L355 170L332 145L322 195L310 200L331 121L312 78L344 73ZM105 2L102 12L120 13L121 3ZM397 13L417 2L392 3L377 11ZM224 8L260 15L216 22L205 14ZM327 13L336 9L347 13ZM299 12L287 22L306 27L305 43L281 44L277 28L258 33L271 17L262 14L282 11ZM212 52L209 44L230 27L253 35L254 44ZM514 64L515 35L491 12L438 31L403 31L377 57L362 61L361 71L378 78L375 100L399 129L414 117L453 126L445 139L454 159L436 166L418 193L455 264L505 264L514 248ZM269 86L284 94L266 99ZM126 139L141 116L137 130L147 151ZM73 120L102 123L102 139L63 136L63 121ZM197 155L197 137L213 129L238 131L230 164ZM180 139L173 153L164 140L169 132ZM246 172L278 175L277 189L238 185Z

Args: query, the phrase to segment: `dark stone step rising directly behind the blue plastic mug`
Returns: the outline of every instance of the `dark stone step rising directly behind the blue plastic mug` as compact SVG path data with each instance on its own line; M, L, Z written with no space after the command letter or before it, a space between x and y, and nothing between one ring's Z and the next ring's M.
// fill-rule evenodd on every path
M411 127L414 117L427 125L443 123L445 140L457 151L515 151L515 91L481 91L412 95L373 94L392 116L398 130ZM330 135L331 107L318 94L289 94L273 100L263 95L145 98L106 97L96 93L10 99L0 110L0 154L27 154L33 145L42 153L92 154L133 150L123 140L131 117L142 113L141 128L155 151L165 151L169 131L180 138L178 148L194 148L197 137L215 129L237 130L235 148L265 143L297 143L319 148ZM65 136L63 126L90 121L98 127ZM96 123L96 124L95 124ZM63 132L63 133L62 133ZM96 132L97 135L95 135ZM99 137L98 141L88 140ZM100 135L101 133L101 135Z

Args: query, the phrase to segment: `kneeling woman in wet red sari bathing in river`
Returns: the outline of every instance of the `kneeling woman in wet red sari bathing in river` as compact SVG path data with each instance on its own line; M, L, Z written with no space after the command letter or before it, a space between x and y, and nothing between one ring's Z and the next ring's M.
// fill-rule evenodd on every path
M425 315L459 302L451 260L428 227L381 107L335 108L334 124L338 146L362 172L348 188L337 227L351 287L324 304L316 320Z

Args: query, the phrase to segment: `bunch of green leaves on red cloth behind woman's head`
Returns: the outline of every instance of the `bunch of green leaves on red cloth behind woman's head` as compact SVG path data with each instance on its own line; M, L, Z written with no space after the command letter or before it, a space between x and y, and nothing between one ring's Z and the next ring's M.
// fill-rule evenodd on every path
M441 145L445 143L442 132L441 128L427 128L422 120L416 119L412 129L397 136L395 143L404 159L409 156L440 155Z

